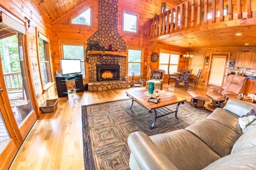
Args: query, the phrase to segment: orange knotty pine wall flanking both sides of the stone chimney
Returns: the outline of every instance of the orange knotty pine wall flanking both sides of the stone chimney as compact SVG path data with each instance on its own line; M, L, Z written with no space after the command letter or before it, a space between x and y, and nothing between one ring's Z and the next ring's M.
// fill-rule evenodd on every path
M92 25L71 25L69 19L81 10L91 8L92 11ZM118 33L122 36L127 44L127 48L133 46L135 48L143 48L143 79L146 79L147 70L149 67L148 61L148 39L146 32L147 21L154 17L155 13L160 14L161 1L125 1L119 0L118 2ZM123 12L130 14L138 14L138 33L122 32L122 19ZM74 8L67 14L57 19L52 24L52 55L54 61L54 71L60 71L60 58L61 58L61 41L72 42L87 42L90 36L98 30L98 1L88 0L80 6ZM126 50L127 52L127 50ZM139 78L138 78L139 79ZM84 83L88 83L88 78L84 79Z

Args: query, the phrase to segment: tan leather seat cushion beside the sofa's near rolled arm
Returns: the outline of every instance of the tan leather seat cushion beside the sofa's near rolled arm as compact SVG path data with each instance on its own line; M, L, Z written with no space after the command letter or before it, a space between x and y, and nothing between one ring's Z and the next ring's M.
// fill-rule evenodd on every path
M204 142L184 129L150 138L178 169L202 169L220 159Z

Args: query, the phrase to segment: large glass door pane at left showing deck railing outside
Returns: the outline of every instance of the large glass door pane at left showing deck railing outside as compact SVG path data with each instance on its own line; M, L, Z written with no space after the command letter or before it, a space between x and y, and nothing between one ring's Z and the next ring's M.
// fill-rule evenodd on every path
M5 86L18 126L34 111L25 70L22 34L0 40L0 53Z

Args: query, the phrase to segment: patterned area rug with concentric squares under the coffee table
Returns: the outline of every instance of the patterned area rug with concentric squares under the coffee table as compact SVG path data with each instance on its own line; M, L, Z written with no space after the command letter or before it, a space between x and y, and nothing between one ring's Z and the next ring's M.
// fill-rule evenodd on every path
M175 111L176 105L168 109ZM211 113L185 102L180 104L178 119L174 113L160 117L150 130L154 114L135 102L130 106L130 99L82 106L85 169L130 169L127 138L131 133L154 135L184 129Z

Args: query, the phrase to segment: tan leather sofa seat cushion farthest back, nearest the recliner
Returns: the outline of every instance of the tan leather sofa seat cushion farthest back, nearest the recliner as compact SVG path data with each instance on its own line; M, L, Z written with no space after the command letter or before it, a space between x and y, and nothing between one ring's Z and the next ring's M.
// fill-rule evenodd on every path
M238 124L238 118L236 114L233 114L225 109L215 109L207 118L220 122L228 128L236 131L237 134L242 135L242 129Z

